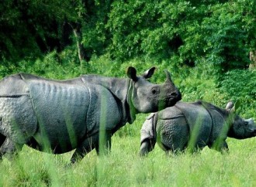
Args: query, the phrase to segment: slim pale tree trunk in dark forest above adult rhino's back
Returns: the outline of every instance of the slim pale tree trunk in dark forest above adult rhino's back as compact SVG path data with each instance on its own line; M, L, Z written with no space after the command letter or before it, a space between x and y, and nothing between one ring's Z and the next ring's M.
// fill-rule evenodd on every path
M71 23L71 26L73 28L74 37L77 41L77 47L78 47L78 58L80 61L80 64L82 65L84 62L88 63L88 58L85 53L85 48L82 45L82 33L81 33L81 24L79 23Z

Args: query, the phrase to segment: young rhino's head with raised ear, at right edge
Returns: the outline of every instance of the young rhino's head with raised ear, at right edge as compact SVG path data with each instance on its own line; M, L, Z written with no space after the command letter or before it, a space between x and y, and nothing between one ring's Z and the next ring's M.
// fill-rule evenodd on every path
M228 137L237 139L255 137L256 125L254 124L253 119L243 119L242 117L238 116L236 114L238 107L239 102L234 104L232 101L230 101L226 106L226 110L229 112L231 120L230 131L227 134Z

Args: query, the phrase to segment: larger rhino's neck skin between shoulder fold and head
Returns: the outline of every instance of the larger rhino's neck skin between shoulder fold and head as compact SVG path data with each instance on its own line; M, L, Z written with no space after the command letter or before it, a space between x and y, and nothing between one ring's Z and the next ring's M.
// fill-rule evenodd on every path
M120 110L122 110L122 122L120 126L129 122L133 123L135 120L134 115L130 112L130 104L127 102L128 92L131 89L131 81L130 79L124 78L115 78L115 77L106 77L106 76L98 76L98 75L83 75L81 76L81 80L86 84L97 84L102 87L106 87L109 92L112 93L113 97L115 97L116 102L118 102L118 106ZM134 118L134 119L133 119Z

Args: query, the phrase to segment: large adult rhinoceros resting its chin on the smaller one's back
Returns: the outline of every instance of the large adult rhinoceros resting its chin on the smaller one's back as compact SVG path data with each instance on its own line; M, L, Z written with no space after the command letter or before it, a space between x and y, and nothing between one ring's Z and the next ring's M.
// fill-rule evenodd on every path
M155 68L129 78L83 75L71 80L47 80L19 73L0 81L0 152L13 154L23 145L61 154L74 150L71 162L89 151L99 153L99 134L104 148L111 136L135 114L150 113L173 106L181 93L171 81L147 81Z

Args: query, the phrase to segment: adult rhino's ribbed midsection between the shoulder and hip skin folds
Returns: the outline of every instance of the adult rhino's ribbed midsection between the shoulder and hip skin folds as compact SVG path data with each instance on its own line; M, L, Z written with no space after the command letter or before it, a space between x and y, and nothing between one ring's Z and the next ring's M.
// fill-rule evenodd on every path
M40 150L50 147L54 153L63 153L77 148L87 131L88 88L39 82L30 83L29 90L39 123L34 138Z

